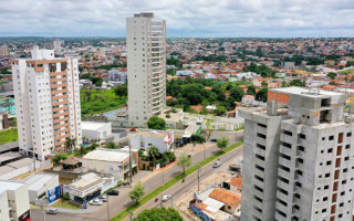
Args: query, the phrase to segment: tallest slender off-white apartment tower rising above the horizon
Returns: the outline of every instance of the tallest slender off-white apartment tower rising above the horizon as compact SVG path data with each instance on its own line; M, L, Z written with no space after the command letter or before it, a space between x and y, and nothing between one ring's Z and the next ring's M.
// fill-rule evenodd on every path
M154 13L126 19L128 118L146 126L166 107L166 21Z

